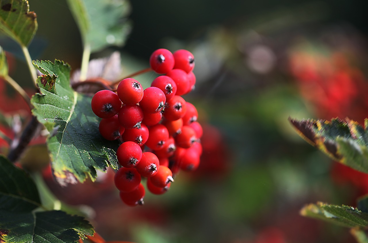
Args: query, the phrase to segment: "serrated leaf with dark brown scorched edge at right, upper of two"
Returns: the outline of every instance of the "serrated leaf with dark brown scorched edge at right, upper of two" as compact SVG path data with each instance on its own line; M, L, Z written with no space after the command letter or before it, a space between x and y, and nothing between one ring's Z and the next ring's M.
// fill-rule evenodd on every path
M368 131L356 121L336 118L328 120L294 120L298 134L332 159L355 170L368 173Z

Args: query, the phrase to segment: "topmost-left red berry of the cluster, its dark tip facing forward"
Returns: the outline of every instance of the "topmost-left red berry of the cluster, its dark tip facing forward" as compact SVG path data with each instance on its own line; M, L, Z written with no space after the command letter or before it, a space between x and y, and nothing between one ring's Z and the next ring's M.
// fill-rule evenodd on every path
M149 58L149 64L156 73L167 73L174 67L174 56L167 49L157 49Z

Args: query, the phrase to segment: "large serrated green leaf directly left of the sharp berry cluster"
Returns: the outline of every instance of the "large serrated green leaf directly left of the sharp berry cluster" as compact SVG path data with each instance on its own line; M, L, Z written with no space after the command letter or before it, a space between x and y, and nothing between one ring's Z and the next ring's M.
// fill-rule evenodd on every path
M50 132L47 148L58 182L83 182L88 175L94 180L96 169L105 171L109 164L117 168L117 143L100 136L91 97L70 87L70 66L59 60L33 65L43 75L37 80L41 93L31 99L32 113Z

